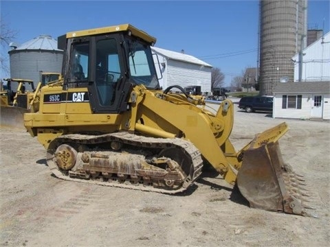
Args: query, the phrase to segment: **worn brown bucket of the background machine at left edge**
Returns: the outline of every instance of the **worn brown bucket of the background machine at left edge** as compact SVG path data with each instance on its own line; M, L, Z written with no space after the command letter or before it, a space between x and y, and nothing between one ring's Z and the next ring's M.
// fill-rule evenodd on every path
M25 129L23 117L24 113L28 112L29 110L25 108L19 108L15 106L1 106L1 126Z

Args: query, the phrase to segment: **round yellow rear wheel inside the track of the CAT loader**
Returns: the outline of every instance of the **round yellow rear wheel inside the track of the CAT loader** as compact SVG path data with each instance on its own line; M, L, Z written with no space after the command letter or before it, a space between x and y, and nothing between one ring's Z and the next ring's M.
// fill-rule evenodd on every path
M57 166L63 170L69 170L76 164L77 151L72 146L62 144L56 149L54 158Z

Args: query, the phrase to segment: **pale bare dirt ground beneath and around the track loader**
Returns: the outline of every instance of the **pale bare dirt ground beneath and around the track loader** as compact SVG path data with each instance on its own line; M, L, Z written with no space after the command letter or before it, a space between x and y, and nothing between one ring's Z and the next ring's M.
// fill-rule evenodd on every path
M328 246L330 123L234 111L236 150L287 122L283 158L305 176L318 218L251 209L207 174L179 196L60 180L36 139L0 128L0 246Z

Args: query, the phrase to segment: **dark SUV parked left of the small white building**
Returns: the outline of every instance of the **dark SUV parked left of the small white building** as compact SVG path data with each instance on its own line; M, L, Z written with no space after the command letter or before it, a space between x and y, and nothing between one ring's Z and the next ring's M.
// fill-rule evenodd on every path
M239 108L247 113L252 113L256 110L273 111L273 96L242 97L239 101Z

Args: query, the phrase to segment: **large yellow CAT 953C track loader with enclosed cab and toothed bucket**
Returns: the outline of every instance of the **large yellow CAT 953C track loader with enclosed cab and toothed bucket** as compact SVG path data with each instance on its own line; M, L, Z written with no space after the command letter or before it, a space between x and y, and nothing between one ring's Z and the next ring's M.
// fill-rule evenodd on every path
M234 106L217 113L181 86L160 89L156 39L129 24L68 32L63 78L43 86L39 111L25 128L47 150L58 178L98 185L179 193L211 165L237 185L251 207L308 215L300 176L282 160L285 123L236 152L230 143ZM181 93L171 93L171 90Z

